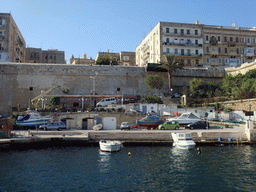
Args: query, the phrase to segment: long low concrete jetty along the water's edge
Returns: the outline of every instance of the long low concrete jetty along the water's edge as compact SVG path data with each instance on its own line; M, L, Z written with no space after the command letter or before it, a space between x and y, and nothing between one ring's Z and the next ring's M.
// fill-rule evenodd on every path
M25 146L44 147L59 145L98 145L101 139L120 140L125 145L171 145L171 133L191 132L197 145L215 144L253 144L246 135L245 127L213 128L208 130L65 130L65 131L12 131L15 137L0 139L0 148L17 148ZM18 136L18 137L17 137Z

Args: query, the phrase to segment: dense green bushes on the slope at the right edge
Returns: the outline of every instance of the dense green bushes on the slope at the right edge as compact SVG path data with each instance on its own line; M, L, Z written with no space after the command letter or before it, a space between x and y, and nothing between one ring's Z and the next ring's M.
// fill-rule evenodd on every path
M220 84L206 82L194 78L190 81L190 89L187 93L193 100L190 105L215 102L218 109L218 102L233 99L249 99L256 97L256 69L233 76L228 74Z

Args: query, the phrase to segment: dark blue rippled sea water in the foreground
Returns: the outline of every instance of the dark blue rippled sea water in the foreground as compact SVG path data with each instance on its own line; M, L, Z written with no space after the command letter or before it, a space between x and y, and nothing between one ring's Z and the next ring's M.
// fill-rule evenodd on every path
M256 191L256 147L0 152L0 191ZM128 156L127 153L132 155Z

